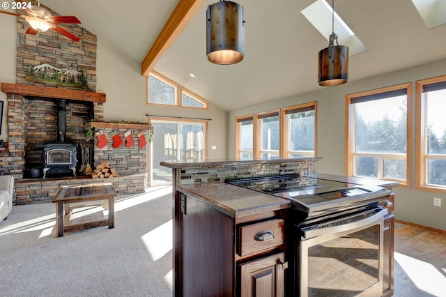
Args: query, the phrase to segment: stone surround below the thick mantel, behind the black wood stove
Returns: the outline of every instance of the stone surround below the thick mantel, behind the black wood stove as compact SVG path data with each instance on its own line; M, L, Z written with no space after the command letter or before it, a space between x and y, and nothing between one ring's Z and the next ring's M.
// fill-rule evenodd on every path
M0 174L12 174L20 179L26 167L42 166L43 144L57 140L55 100L8 94L8 149L0 151ZM92 146L93 140L86 141L85 128L92 117L103 119L103 105L102 102L67 100L66 142Z

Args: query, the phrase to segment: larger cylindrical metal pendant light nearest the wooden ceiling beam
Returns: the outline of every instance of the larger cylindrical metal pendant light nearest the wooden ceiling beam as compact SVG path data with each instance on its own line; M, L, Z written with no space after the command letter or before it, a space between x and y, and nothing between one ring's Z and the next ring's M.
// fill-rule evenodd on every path
M245 56L245 16L243 6L220 0L206 11L206 54L220 65L238 63Z

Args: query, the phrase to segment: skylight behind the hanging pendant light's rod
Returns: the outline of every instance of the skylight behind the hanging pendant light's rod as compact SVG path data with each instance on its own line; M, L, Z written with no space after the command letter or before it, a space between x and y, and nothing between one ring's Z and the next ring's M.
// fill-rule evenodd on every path
M308 6L300 13L307 17L319 33L329 41L332 33L332 7L325 0L316 0L312 5ZM334 11L334 33L337 34L339 45L348 46L348 56L354 56L367 51L367 47L362 44L355 33L348 28L347 24ZM336 45L336 43L334 44Z

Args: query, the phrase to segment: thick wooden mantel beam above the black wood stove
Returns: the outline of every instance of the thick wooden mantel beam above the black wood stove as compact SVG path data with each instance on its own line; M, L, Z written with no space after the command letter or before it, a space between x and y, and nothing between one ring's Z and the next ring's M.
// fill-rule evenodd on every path
M6 94L33 96L43 98L58 98L89 102L105 102L105 93L91 91L60 89L51 86L32 86L29 84L1 83L1 91Z

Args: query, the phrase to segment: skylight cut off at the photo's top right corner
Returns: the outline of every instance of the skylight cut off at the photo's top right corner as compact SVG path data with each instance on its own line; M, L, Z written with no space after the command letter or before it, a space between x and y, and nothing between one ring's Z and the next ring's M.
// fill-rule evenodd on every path
M420 13L427 29L446 24L445 0L412 0L412 3Z

